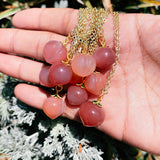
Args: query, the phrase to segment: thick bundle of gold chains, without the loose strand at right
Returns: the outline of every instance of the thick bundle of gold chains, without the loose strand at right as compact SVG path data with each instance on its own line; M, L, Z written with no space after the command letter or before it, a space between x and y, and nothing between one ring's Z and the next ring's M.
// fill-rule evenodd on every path
M103 24L110 11L96 8L79 9L78 23L63 43L70 44L67 54L68 63L74 54L92 55L97 46L105 47Z

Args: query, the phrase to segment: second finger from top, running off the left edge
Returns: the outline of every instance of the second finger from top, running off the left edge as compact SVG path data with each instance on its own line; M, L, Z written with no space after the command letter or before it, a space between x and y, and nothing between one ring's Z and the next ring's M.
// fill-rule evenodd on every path
M50 40L63 41L64 36L42 31L0 29L0 51L44 60L43 48Z

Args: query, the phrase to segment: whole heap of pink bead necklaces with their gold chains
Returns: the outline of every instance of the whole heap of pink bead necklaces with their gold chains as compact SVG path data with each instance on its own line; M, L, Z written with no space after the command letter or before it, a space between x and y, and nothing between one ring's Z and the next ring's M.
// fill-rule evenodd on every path
M114 21L115 49L106 46L103 24L109 14ZM79 116L85 126L100 125L105 113L100 101L108 92L119 57L119 16L104 9L80 9L78 23L63 43L50 41L44 47L47 66L40 75L41 84L55 87L56 94L51 95L43 105L43 111L51 119L64 112L64 102L59 93L66 90L70 105L79 107ZM103 72L108 71L106 77ZM59 89L58 89L59 87ZM90 95L98 96L89 101Z

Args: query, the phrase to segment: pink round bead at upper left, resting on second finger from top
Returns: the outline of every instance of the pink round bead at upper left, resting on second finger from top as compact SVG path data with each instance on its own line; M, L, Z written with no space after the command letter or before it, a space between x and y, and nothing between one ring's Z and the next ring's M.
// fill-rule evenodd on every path
M43 56L47 63L62 62L67 59L67 49L59 41L49 41L43 50Z

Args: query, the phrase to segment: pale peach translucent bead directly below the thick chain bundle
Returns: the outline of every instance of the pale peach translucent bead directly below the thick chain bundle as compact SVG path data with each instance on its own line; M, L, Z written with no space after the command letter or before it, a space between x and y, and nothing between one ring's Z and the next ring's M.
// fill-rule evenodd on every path
M72 70L81 77L90 75L96 68L96 61L91 55L76 55L71 62Z

